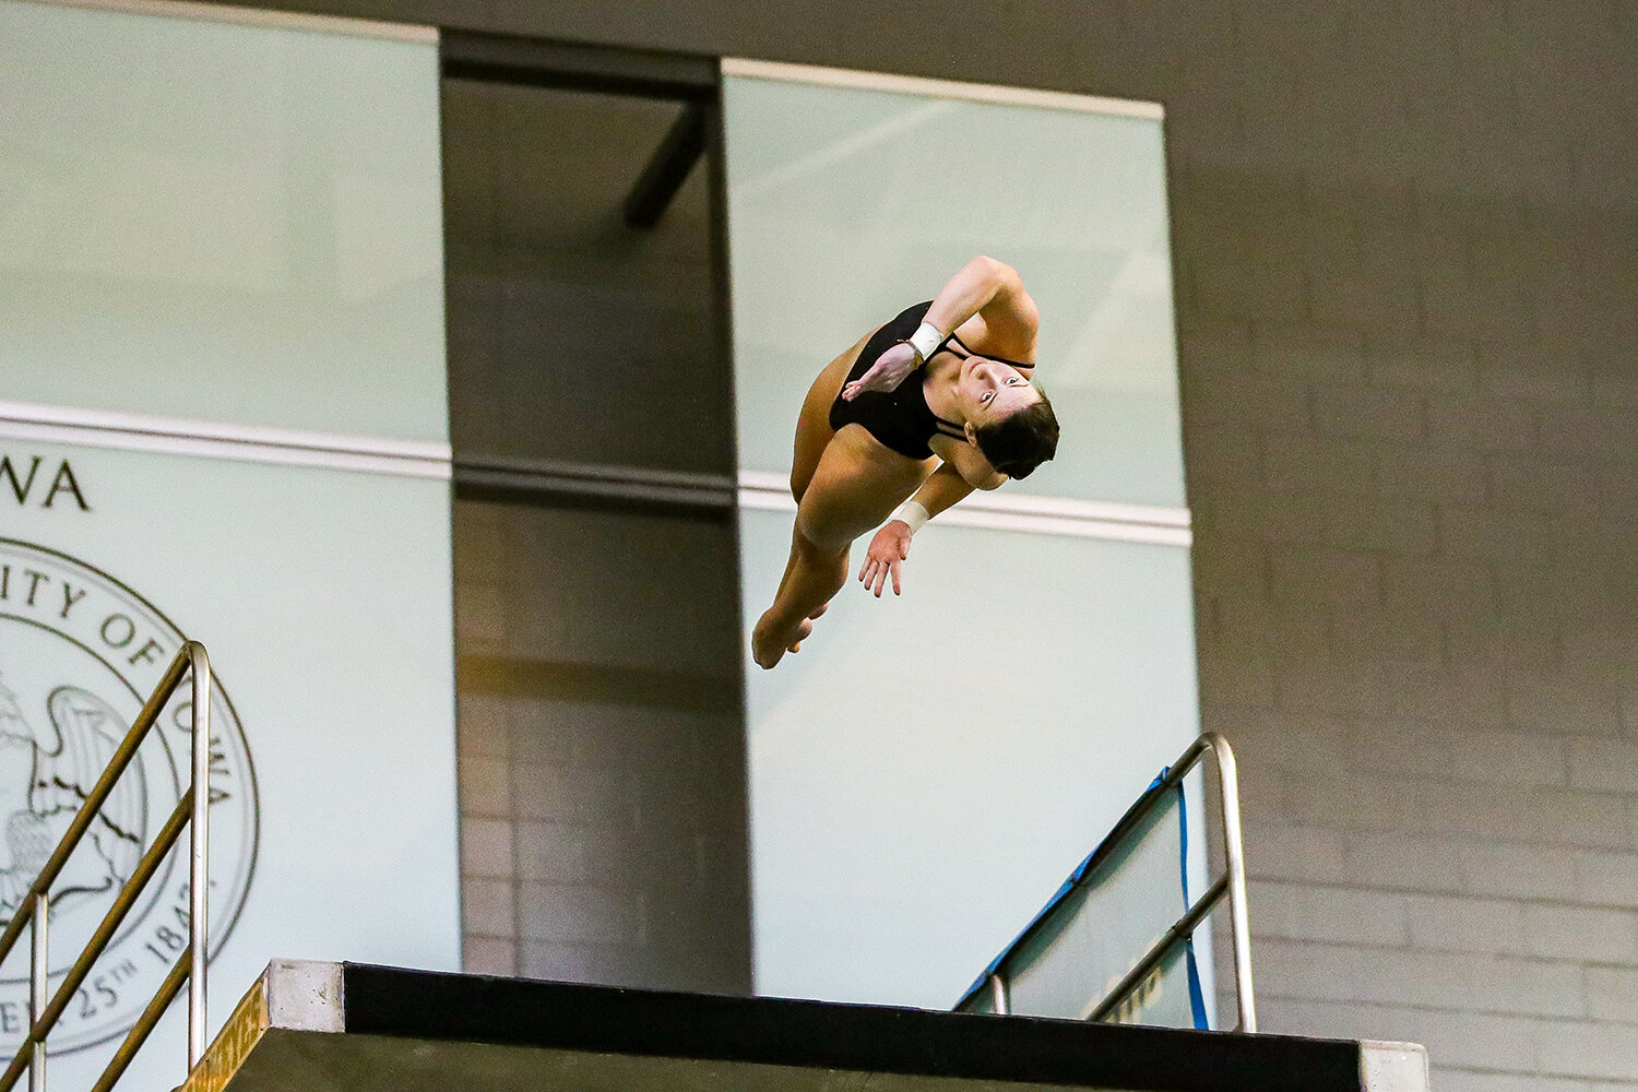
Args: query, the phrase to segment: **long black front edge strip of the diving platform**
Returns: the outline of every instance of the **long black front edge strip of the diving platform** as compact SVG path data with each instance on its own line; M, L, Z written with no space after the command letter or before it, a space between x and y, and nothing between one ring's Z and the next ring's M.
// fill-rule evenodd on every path
M342 964L349 1033L1145 1092L1360 1092L1360 1045Z

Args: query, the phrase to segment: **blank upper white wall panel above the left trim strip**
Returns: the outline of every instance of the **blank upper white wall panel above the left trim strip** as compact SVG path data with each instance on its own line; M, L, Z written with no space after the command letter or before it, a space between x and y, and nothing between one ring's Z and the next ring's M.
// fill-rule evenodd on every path
M8 401L447 440L437 47L0 2Z

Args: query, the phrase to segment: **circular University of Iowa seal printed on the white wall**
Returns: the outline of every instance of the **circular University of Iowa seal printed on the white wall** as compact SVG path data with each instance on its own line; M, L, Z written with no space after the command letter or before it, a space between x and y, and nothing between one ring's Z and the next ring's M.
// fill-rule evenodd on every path
M0 918L10 920L183 635L118 580L0 539ZM239 717L210 694L210 956L256 868L256 773ZM90 940L192 778L192 686L165 702L51 892L51 990ZM56 1030L54 1054L123 1035L188 941L188 832L149 879ZM28 936L0 966L0 1053L28 1031Z

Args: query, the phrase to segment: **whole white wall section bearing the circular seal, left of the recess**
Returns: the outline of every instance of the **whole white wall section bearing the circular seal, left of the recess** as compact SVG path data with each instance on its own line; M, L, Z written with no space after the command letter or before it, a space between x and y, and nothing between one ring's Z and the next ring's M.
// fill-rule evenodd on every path
M459 966L436 46L5 2L0 74L7 814L56 837L29 763L87 787L75 747L102 761L201 640L213 1028L275 956ZM129 876L188 743L174 701L74 882ZM54 1084L134 1022L185 887L69 1005ZM61 897L57 981L110 900ZM7 1049L26 990L15 956ZM126 1085L180 1081L183 1023Z

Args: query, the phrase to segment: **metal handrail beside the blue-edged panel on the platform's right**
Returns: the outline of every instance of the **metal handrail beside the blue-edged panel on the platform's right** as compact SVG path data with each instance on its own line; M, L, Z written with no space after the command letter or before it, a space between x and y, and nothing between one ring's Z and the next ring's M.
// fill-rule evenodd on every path
M1137 987L1150 976L1150 972L1160 966L1160 961L1166 954L1181 945L1194 928L1206 920L1206 915L1228 896L1228 920L1230 932L1233 935L1233 976L1235 976L1235 995L1238 1002L1240 1025L1237 1031L1256 1031L1256 1002L1251 995L1251 923L1245 907L1245 846L1240 842L1240 779L1235 773L1233 748L1228 747L1225 740L1217 732L1207 732L1201 735L1189 750L1174 761L1166 776L1137 799L1137 802L1120 817L1109 837L1102 840L1097 846L1097 853L1088 863L1088 873L1091 873L1099 860L1107 858L1122 842L1125 842L1138 825L1148 817L1155 807L1165 799L1166 792L1176 789L1183 784L1184 774L1188 774L1206 753L1210 751L1217 760L1217 786L1220 791L1222 819L1224 819L1224 874L1219 876L1210 887L1206 889L1194 905L1184 910L1166 933L1155 941L1143 958L1115 984L1112 990L1091 1010L1086 1017L1088 1020L1102 1020L1111 1012L1114 1012L1127 997L1130 997ZM1045 918L1042 918L1045 920ZM1037 922L1038 925L1040 922ZM1034 930L1029 930L1034 932ZM1025 932L1025 936L1029 935ZM1020 936L1019 941L1024 938ZM1019 941L1014 941L1014 948ZM989 995L991 1007L994 1012L1006 1015L1011 1012L1011 982L1006 976L1006 958L1001 964L989 974ZM0 1092L5 1092L0 1089Z

